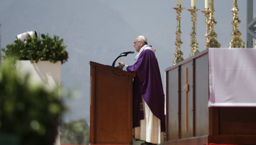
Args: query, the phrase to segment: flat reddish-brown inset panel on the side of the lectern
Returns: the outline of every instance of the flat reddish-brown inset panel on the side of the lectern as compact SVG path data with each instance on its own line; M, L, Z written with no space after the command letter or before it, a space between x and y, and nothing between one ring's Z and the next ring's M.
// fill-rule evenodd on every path
M109 84L111 82L111 84ZM131 90L129 88L127 77L115 75L112 72L107 73L106 69L96 67L96 85L95 90L95 140L96 143L116 143L127 142L129 135L129 116L127 113L131 107L128 102L130 98L126 97ZM114 87L113 87L114 85ZM118 91L120 90L120 91ZM122 134L122 135L121 135Z

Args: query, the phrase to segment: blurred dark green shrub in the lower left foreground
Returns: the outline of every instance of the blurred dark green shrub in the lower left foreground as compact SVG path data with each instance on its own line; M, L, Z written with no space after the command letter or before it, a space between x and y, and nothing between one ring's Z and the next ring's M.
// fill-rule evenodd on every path
M28 77L7 61L0 67L0 135L17 136L19 145L53 145L66 110L60 87L49 91Z

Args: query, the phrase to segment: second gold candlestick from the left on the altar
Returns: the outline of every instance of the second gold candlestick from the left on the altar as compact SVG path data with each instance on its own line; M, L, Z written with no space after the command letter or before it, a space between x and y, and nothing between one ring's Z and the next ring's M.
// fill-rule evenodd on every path
M196 7L191 7L191 9L188 9L188 11L190 11L190 14L192 15L191 17L191 21L192 21L192 31L190 33L191 36L191 52L189 54L189 57L199 53L198 50L198 43L196 40L196 23L197 23L197 17L196 17L196 12L199 11L199 9L196 9Z

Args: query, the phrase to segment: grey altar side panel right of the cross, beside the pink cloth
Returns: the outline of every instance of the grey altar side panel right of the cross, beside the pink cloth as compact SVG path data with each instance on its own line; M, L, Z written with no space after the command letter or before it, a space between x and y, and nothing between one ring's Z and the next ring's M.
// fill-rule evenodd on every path
M202 55L194 60L195 66L195 136L207 135L209 133L209 69L208 54Z

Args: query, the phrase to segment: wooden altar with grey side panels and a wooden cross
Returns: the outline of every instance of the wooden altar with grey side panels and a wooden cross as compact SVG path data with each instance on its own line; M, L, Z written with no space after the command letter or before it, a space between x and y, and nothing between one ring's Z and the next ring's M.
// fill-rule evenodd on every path
M166 68L165 74L165 145L256 144L256 107L208 107L208 50Z

